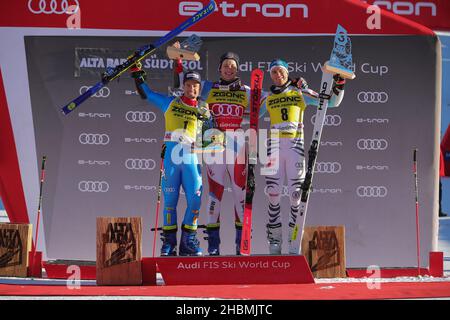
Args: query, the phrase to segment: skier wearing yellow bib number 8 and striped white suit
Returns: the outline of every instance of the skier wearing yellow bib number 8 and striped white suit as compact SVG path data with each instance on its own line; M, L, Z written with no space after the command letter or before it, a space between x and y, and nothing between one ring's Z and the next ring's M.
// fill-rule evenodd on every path
M285 61L272 61L270 77L274 85L260 109L260 115L267 111L270 116L271 130L267 148L269 164L266 167L268 170L265 188L269 199L267 239L269 253L278 255L281 254L282 248L280 200L285 176L290 200L288 239L291 239L297 218L302 219L299 223L302 229L299 232L303 232L305 217L298 217L301 185L306 174L303 115L306 106L318 106L318 94L308 89L303 78L290 80L288 69L289 65ZM344 79L334 77L330 107L337 107L341 103L344 83ZM289 253L298 254L290 245Z

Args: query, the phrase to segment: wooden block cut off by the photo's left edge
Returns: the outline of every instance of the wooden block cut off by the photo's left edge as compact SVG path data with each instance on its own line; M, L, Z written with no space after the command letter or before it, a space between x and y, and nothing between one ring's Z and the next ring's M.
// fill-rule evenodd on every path
M0 276L26 277L31 224L0 223Z

